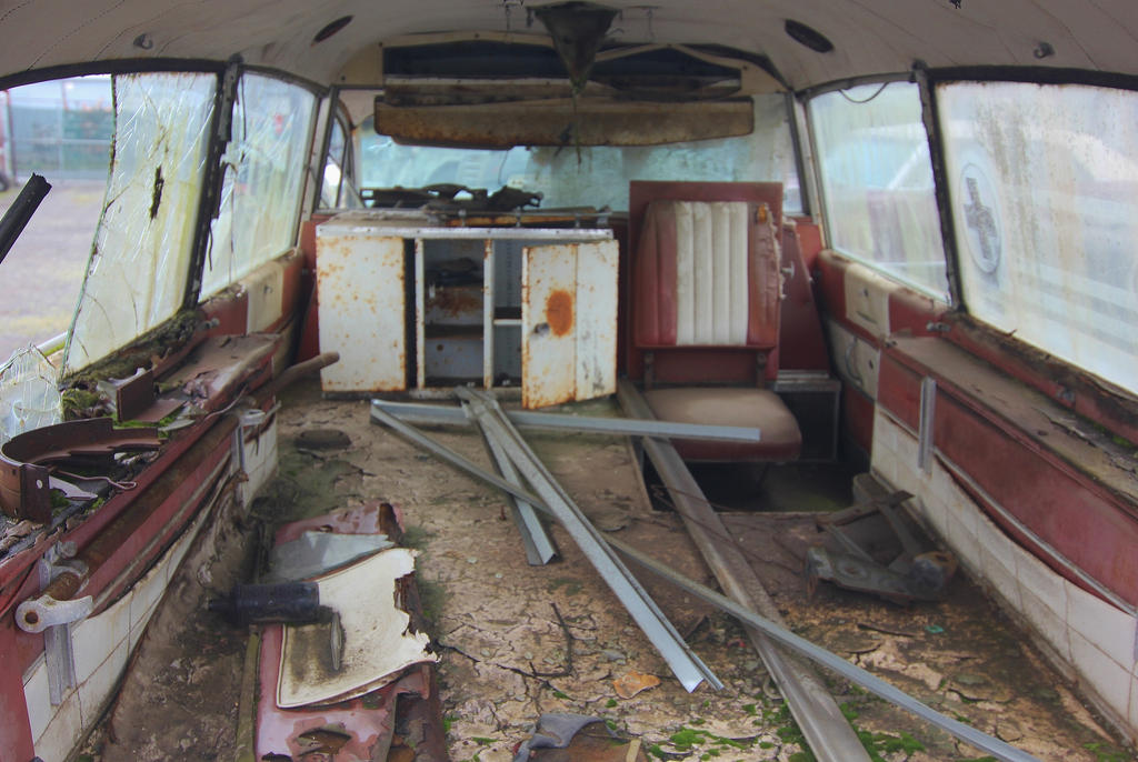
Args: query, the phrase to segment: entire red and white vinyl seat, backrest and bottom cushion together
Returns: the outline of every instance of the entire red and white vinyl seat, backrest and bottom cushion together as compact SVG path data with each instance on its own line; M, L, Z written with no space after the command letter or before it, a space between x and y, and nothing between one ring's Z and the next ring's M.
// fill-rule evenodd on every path
M642 185L642 191L666 190L637 215L633 342L644 353L645 400L660 420L761 432L761 441L747 445L675 440L685 459L797 458L798 423L782 399L762 388L774 374L778 343L777 213L754 192L723 198L747 184L692 183L690 199L683 198L683 183ZM720 198L701 193L709 185ZM770 185L761 184L764 190ZM739 380L741 355L753 368L749 383ZM677 380L682 386L675 386Z

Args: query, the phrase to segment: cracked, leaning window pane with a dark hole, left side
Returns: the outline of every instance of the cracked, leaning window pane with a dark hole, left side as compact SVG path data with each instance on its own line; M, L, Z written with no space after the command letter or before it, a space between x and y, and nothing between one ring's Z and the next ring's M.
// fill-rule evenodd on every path
M80 370L171 317L193 247L217 77L116 75L110 177L65 372Z

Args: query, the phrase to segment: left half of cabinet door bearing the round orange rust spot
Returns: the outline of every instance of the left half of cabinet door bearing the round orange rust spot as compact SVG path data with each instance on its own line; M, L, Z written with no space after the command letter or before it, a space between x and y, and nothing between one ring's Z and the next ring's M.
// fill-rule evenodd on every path
M577 245L523 249L521 400L545 407L574 399L577 387Z

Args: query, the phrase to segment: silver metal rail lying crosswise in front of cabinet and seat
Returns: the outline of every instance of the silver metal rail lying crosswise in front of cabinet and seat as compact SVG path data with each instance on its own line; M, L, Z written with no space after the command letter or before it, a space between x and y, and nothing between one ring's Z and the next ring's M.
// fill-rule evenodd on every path
M424 403L393 403L386 399L371 400L372 409L379 408L403 421L418 423L465 424L465 414L457 407L428 405ZM505 416L522 429L554 429L605 433L628 437L667 437L677 439L703 439L753 444L761 441L758 429L749 426L719 426L700 423L676 423L671 421L644 421L638 419L607 419L588 415L566 415L563 413L535 413L533 411L506 411Z

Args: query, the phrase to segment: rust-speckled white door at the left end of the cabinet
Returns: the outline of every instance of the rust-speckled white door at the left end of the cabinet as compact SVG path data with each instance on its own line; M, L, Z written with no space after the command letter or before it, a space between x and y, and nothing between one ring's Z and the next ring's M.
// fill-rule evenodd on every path
M320 349L340 354L320 372L321 387L406 389L403 239L319 227L316 235Z

